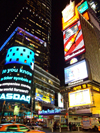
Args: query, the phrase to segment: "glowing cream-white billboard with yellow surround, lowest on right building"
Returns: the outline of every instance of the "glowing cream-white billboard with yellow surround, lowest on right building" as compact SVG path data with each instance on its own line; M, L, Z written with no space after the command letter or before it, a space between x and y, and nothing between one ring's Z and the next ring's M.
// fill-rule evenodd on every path
M77 107L92 104L92 96L90 89L69 92L69 107Z

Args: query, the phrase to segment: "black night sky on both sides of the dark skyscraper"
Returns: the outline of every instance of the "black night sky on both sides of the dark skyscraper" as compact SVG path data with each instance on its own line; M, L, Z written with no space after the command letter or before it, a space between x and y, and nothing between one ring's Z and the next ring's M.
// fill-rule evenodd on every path
M77 4L80 0L75 1ZM61 11L70 3L70 0L52 0L52 28L51 28L51 69L50 73L63 80L64 53ZM17 11L18 0L0 0L0 41L2 33L12 22ZM21 6L21 4L20 4Z

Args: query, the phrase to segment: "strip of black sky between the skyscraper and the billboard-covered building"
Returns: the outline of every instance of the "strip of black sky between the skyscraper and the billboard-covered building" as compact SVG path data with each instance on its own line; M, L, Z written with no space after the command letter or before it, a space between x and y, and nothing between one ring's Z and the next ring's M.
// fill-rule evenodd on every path
M76 0L78 4L80 0ZM52 0L52 42L51 42L51 68L52 74L60 80L64 77L64 52L63 52L63 32L61 11L70 3L70 0Z

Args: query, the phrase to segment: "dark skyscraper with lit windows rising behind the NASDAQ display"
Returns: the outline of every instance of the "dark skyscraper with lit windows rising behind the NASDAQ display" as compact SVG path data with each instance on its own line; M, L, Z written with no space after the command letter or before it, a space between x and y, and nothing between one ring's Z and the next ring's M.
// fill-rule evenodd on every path
M7 2L6 2L7 4ZM11 4L11 3L10 3ZM27 45L28 48L35 52L35 64L49 71L50 68L50 41L51 41L51 0L18 0L15 1L16 6L12 5L16 16L12 17L12 22L6 28L1 36L0 52L2 59L6 55L6 50L15 43L5 42L12 32L20 27L20 36L23 39L17 41L17 45ZM11 13L12 14L12 13ZM10 17L10 16L9 16ZM11 19L10 17L10 19ZM7 23L7 22L6 22ZM26 38L26 32L34 35L34 41ZM17 36L18 37L18 36ZM8 45L9 43L9 45ZM2 47L3 46L3 47ZM6 49L6 50L5 50ZM0 58L0 61L2 61Z

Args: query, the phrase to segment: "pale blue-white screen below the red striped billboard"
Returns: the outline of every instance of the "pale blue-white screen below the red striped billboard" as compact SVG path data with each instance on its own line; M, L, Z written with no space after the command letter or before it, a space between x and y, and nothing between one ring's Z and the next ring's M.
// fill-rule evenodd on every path
M77 62L64 69L65 84L88 78L87 64L85 60Z

